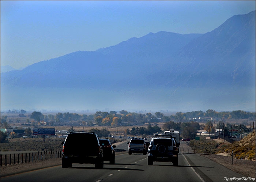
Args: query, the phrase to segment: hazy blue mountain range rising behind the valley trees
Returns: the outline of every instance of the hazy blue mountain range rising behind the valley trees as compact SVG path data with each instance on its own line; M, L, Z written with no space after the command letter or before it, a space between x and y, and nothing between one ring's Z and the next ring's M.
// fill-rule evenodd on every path
M205 34L160 31L41 61L1 73L1 109L255 111L255 34L252 11Z

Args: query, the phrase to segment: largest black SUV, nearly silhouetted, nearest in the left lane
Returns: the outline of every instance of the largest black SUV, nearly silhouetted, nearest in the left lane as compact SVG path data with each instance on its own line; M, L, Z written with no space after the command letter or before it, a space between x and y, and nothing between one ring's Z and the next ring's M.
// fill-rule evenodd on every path
M91 163L96 169L103 168L103 149L94 132L70 132L61 144L63 168L72 167L72 163Z

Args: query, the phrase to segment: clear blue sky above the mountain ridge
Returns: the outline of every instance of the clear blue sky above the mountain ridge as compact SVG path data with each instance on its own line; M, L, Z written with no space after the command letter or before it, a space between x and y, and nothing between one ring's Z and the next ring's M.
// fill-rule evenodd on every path
M1 66L26 67L159 31L206 33L255 1L1 1Z

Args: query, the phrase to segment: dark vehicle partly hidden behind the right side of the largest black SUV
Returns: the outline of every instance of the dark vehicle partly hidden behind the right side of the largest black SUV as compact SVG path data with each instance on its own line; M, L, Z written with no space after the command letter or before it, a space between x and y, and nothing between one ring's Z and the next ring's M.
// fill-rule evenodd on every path
M99 138L99 144L103 149L103 161L109 161L110 164L115 163L115 149L116 145L112 146L112 143L108 138Z

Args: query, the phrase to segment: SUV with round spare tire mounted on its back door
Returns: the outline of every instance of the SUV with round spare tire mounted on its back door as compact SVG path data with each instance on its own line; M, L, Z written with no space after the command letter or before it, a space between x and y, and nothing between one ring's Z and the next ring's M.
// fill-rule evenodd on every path
M178 165L178 146L172 135L155 135L148 147L148 165L154 161L172 162Z

